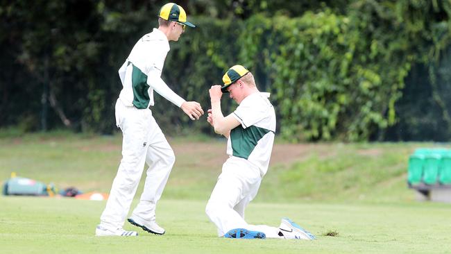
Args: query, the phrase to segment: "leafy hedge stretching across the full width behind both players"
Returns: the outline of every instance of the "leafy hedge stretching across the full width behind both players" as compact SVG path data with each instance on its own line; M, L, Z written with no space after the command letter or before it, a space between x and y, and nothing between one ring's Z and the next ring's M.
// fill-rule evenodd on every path
M16 1L0 6L6 20L0 28L10 31L0 36L0 45L8 49L0 56L12 63L2 65L0 84L4 94L21 98L0 104L9 114L0 115L0 126L39 129L42 87L48 84L71 128L114 131L114 102L121 90L117 69L136 40L157 25L149 15L156 7L134 9L117 3L112 8L104 1L88 2L38 1L29 6ZM198 27L187 28L179 42L171 42L163 79L207 110L210 85L221 83L228 67L242 64L253 71L260 90L272 93L282 137L357 141L384 139L387 128L408 122L402 119L402 109L415 102L403 102L398 108L397 103L408 88L405 81L411 81L407 78L411 67L422 65L430 81L424 89L432 90L429 98L439 105L434 116L443 117L447 125L443 137L448 137L451 120L445 102L451 98L441 92L447 86L438 82L449 81L436 77L436 72L443 69L441 54L451 41L450 2L346 4L340 11L337 6L315 6L314 12L306 10L301 17L274 13L250 13L244 19L192 17ZM24 11L28 9L55 15ZM81 16L86 16L83 22L74 22ZM191 121L155 97L153 112L165 133L212 133L205 118ZM224 98L224 112L235 107ZM49 128L62 126L55 110L49 109L48 119Z

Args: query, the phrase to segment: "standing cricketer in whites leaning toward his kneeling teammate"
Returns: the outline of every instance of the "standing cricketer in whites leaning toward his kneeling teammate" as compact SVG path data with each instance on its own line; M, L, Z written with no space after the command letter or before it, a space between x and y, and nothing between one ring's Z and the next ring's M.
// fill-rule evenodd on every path
M196 101L185 101L162 81L164 59L169 41L178 41L187 22L185 10L176 3L164 5L158 15L158 28L144 35L133 46L119 69L124 86L116 103L116 123L123 133L122 160L112 183L110 196L96 227L98 236L137 236L122 227L135 196L144 164L148 165L144 191L130 223L147 232L163 235L165 230L155 221L155 206L163 192L175 161L174 153L152 116L153 92L174 103L192 120L203 115Z

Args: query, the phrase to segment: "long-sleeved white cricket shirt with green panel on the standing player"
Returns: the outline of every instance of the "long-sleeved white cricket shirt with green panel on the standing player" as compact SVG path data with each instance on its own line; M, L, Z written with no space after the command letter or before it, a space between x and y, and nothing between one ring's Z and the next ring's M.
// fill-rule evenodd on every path
M133 46L130 55L119 69L123 88L119 99L124 105L148 108L154 105L153 91L158 92L179 108L185 102L161 78L164 60L169 52L166 35L157 28L144 35Z

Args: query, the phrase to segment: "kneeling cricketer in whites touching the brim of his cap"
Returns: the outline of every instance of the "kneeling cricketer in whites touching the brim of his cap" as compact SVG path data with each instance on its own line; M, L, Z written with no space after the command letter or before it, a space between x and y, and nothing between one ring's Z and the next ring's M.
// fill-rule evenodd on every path
M278 228L250 225L244 209L257 195L268 170L275 133L275 112L269 93L261 93L253 75L241 65L228 69L223 87L210 88L212 109L207 121L214 131L228 138L229 158L213 189L205 212L218 228L219 237L315 239L314 235L284 218ZM239 106L227 117L221 111L221 96L229 93Z

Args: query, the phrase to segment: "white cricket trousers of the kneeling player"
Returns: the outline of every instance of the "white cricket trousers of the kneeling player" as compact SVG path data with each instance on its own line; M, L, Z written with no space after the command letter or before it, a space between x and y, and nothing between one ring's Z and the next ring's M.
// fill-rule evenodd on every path
M280 238L279 228L266 225L250 225L244 221L244 210L257 195L262 176L260 170L248 160L230 156L222 167L218 182L205 212L223 237L235 228L264 232L268 238Z

